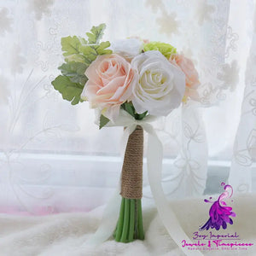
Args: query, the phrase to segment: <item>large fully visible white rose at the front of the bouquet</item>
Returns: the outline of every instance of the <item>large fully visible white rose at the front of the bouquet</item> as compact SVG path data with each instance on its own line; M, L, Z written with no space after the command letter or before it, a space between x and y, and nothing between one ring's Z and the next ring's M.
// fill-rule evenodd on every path
M159 51L137 55L131 61L131 67L139 75L132 96L137 113L148 111L152 115L167 115L182 102L185 74Z

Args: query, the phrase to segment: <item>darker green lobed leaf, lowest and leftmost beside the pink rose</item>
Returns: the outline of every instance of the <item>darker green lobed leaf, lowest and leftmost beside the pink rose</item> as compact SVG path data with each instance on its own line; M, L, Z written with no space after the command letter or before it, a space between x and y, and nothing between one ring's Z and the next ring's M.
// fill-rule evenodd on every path
M78 83L73 83L66 76L58 76L54 81L51 82L55 90L58 90L63 99L71 102L72 105L76 105L82 102L80 96L84 89L84 86Z

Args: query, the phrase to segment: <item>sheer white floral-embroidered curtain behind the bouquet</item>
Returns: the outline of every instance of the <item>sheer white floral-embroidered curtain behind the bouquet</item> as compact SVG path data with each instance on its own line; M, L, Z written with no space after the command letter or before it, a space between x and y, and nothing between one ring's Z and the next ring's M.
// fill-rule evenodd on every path
M170 43L200 73L201 101L154 124L166 195L214 194L229 175L236 193L255 191L255 17L253 0L0 0L0 212L89 211L116 188L122 128L99 131L87 102L50 84L61 38L100 23L110 42Z

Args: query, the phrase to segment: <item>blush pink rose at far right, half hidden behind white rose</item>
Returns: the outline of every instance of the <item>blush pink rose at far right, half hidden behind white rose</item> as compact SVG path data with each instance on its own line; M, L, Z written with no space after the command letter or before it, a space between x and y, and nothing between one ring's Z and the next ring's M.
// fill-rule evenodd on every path
M186 102L188 97L192 100L198 101L199 95L197 89L200 85L200 81L194 63L184 55L177 54L172 55L169 61L179 67L186 75L186 89L183 102Z

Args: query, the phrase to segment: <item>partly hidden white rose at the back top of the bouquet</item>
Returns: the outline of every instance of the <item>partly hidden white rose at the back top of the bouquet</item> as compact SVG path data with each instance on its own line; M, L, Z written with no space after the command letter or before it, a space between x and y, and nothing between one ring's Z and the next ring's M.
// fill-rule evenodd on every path
M141 53L143 49L143 41L137 38L117 40L111 44L111 49L114 53L117 53L131 61L133 57Z

